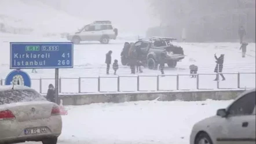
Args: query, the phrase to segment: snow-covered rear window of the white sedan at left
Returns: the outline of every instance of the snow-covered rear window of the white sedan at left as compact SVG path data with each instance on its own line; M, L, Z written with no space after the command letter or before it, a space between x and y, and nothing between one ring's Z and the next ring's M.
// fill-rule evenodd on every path
M0 91L0 105L28 101L46 101L46 98L37 93L35 90Z

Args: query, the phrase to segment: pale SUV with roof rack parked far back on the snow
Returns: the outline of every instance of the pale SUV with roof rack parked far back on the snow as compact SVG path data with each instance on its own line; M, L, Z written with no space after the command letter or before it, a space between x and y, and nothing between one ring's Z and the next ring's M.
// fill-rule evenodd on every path
M107 44L109 39L116 39L116 36L118 36L118 29L112 27L111 21L94 21L79 29L75 34L68 34L67 39L74 44L87 40L98 40Z

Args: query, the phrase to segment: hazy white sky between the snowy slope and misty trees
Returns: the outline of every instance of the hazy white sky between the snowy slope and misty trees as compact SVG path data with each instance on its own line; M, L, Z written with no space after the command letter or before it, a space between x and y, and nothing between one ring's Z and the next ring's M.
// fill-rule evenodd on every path
M159 25L149 10L147 0L39 0L81 19L111 20L114 27L127 32L144 33Z

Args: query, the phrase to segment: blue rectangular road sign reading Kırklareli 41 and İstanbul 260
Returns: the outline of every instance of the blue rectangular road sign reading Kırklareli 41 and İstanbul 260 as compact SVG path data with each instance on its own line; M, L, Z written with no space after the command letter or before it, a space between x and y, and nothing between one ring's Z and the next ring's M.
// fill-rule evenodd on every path
M10 42L10 69L73 68L72 42Z

